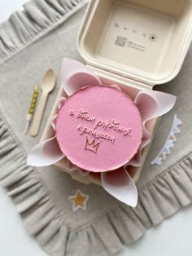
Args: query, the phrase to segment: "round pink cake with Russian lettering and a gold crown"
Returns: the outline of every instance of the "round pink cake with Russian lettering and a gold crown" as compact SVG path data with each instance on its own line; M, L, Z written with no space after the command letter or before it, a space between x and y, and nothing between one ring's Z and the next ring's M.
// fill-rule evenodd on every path
M124 166L142 142L142 119L128 95L110 86L86 86L68 97L56 120L59 148L94 172Z

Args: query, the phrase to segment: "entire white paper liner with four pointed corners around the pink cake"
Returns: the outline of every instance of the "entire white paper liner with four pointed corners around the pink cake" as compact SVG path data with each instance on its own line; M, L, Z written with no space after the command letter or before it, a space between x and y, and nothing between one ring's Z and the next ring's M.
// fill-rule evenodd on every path
M65 90L68 95L72 95L76 90L85 86L102 84L91 69L71 59L63 60L61 82L63 84L63 90ZM119 86L111 86L120 90ZM59 108L62 107L65 100L66 99L63 97L59 99ZM141 113L143 139L136 156L133 157L126 166L140 166L142 149L146 147L146 144L150 143L151 140L151 133L146 129L146 121L167 113L173 107L175 101L175 96L154 90L144 90L137 94L134 103ZM56 118L57 115L51 120L51 125L54 130ZM50 166L63 157L65 156L63 152L60 151L57 140L54 137L34 147L28 154L27 162L29 166ZM125 170L126 166L118 170L101 173L101 183L103 188L112 196L115 196L118 200L129 206L135 207L137 205L137 188L135 183L133 183L133 179L131 179L129 173ZM74 168L75 167L76 166L74 166ZM76 170L78 170L82 176L89 174L89 171L81 170L78 167L76 167Z

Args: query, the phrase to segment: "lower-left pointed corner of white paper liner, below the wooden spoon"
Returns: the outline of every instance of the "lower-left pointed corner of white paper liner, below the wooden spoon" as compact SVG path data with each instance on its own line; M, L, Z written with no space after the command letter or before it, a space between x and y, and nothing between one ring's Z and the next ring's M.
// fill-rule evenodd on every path
M65 157L60 151L56 137L47 139L35 146L28 154L28 166L50 166Z

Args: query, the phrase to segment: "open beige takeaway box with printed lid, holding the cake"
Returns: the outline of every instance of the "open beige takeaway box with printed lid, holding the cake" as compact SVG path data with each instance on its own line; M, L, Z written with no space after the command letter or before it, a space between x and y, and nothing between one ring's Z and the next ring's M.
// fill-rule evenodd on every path
M177 76L192 38L190 0L90 0L77 40L89 68L103 82L116 84L132 99L139 90L171 81ZM57 101L65 95L61 86L41 140L54 130L50 119L58 112ZM151 142L158 119L147 123ZM134 182L140 177L150 144L142 150L142 165L131 167ZM64 158L55 164L82 183L100 184L99 174L81 176Z

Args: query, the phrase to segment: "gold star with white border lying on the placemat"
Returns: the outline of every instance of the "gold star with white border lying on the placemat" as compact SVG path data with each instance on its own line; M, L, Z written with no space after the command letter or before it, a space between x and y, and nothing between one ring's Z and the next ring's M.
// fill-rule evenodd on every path
M68 198L72 201L72 210L86 210L86 203L89 200L89 195L85 195L80 189L77 189L75 195L69 196Z

